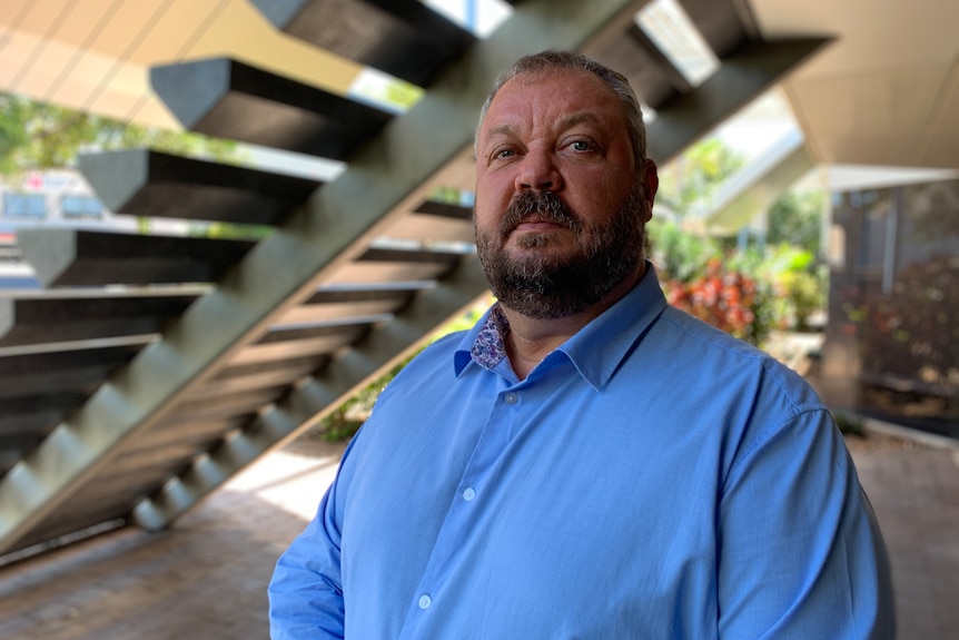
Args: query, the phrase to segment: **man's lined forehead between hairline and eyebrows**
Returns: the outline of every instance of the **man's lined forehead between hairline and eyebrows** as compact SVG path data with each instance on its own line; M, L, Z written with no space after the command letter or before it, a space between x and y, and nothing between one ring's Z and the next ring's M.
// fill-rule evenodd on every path
M561 69L517 76L503 85L490 105L481 135L569 121L625 128L622 105L609 85L589 71Z

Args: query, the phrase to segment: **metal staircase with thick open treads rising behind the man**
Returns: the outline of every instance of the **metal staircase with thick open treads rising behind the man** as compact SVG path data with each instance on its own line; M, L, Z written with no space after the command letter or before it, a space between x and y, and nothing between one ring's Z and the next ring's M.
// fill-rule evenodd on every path
M664 163L827 41L763 42L738 2L683 0L723 62L694 88L635 28L643 1L515 2L486 40L416 0L253 3L424 98L394 116L240 60L152 70L185 127L346 169L320 184L149 149L80 160L117 213L274 230L20 234L45 289L0 299L0 553L169 526L482 295L469 209L431 195L472 189L478 108L520 56L582 50L627 71Z

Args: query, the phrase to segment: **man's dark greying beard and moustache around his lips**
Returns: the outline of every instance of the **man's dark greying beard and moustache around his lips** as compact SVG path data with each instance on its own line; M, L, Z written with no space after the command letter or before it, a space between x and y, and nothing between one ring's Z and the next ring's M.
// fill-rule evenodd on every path
M537 319L566 317L600 303L635 273L644 257L647 206L637 183L610 223L599 226L584 223L555 194L524 191L511 203L498 229L476 229L476 253L493 295L506 307ZM573 232L575 249L554 255L537 252L537 247L548 249L550 235L524 234L521 248L531 250L511 253L505 246L508 235L534 214Z

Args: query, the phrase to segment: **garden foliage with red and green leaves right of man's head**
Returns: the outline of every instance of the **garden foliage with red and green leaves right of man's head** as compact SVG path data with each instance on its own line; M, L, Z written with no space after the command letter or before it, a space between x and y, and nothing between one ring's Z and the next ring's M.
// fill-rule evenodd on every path
M767 242L751 247L685 230L688 216L708 206L744 161L713 138L665 168L656 201L674 216L650 221L647 253L672 304L762 344L773 329L805 328L824 305L825 278L815 255L825 199L821 191L784 194L769 211Z

